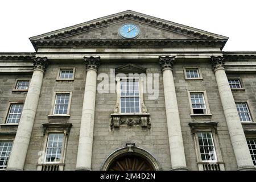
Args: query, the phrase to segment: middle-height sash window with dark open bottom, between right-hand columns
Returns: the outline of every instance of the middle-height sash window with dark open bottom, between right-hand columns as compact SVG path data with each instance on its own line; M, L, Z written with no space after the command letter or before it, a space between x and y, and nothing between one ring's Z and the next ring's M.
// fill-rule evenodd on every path
M206 114L207 109L203 93L190 93L193 114Z

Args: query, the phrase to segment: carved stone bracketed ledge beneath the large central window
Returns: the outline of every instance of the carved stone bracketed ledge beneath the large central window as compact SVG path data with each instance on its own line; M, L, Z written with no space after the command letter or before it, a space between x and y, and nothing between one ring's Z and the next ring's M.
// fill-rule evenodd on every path
M118 128L120 126L139 126L151 128L150 114L137 114L137 115L123 115L111 114L109 121L110 129Z

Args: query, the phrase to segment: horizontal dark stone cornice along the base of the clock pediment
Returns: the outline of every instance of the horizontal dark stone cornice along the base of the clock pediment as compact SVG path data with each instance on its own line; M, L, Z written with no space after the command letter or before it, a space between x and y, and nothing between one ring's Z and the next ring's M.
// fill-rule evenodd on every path
M39 47L220 47L227 40L221 39L136 39L136 40L33 40L35 49Z

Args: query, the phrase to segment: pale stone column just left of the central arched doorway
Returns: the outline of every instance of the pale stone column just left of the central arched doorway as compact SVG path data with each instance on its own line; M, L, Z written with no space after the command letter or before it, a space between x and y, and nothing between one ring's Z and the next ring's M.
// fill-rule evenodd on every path
M87 73L77 152L77 170L91 170L97 70L100 65L100 57L84 57L84 60Z

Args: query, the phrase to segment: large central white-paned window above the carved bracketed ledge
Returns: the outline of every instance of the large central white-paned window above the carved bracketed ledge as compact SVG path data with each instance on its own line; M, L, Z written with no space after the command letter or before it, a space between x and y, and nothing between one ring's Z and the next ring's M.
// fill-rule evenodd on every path
M121 113L139 113L139 79L121 79Z

